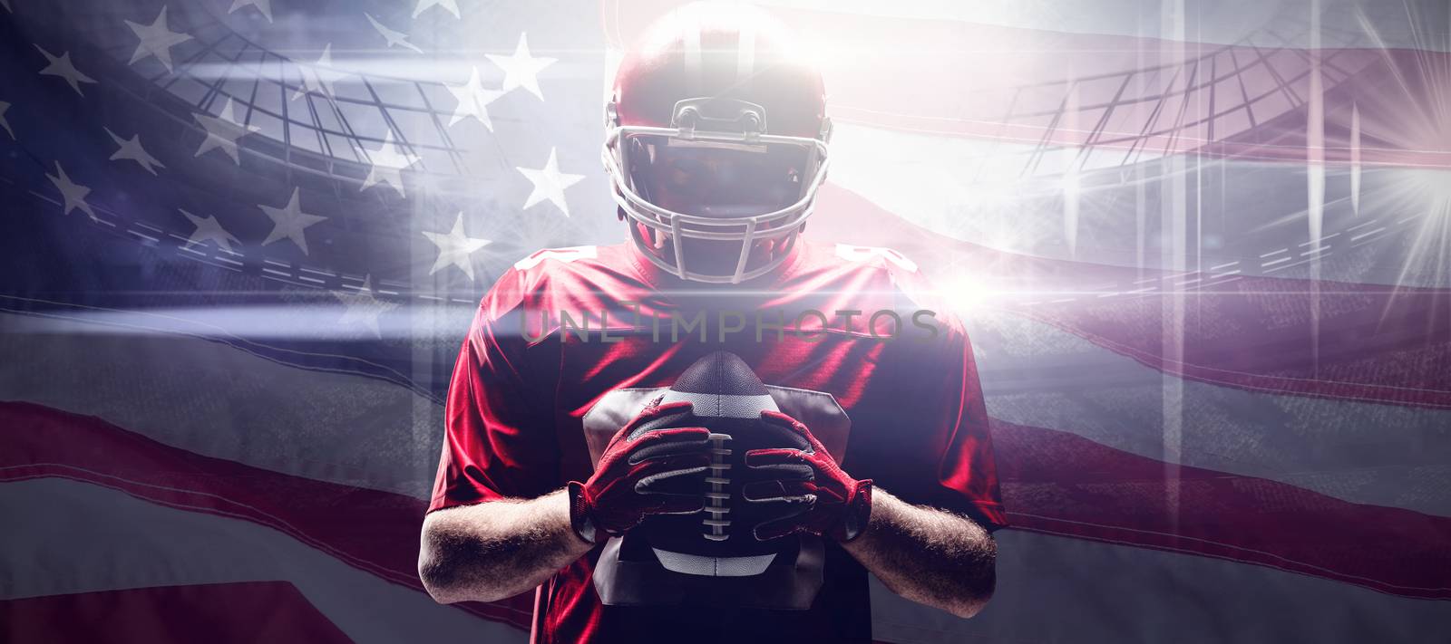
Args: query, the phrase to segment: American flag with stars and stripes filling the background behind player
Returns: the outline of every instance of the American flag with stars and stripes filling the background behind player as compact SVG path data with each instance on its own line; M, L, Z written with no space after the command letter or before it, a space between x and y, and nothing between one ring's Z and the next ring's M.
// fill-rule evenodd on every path
M0 0L0 640L524 641L418 531L480 294L624 231L660 0ZM807 235L975 342L1004 505L963 621L1451 632L1445 0L772 1L836 122Z

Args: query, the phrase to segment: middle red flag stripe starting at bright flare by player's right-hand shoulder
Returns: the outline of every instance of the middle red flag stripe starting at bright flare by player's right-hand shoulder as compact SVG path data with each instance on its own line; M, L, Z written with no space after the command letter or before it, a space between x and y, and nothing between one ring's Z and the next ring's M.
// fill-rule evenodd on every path
M961 289L963 278L1029 297L1035 290L1080 293L1075 302L1029 305L1019 297L1000 306L1175 376L1265 393L1451 408L1451 316L1442 313L1451 292L1442 289L1322 283L1316 316L1306 280L1245 277L1184 296L1172 284L1185 274L1035 258L946 239L840 186L823 191L815 216L829 238L904 252L946 293ZM1135 283L1143 292L1130 293ZM1122 294L1097 297L1104 284ZM1171 328L1177 337L1165 338L1165 300L1178 297L1187 300L1194 323ZM1183 357L1167 355L1165 345L1177 342Z

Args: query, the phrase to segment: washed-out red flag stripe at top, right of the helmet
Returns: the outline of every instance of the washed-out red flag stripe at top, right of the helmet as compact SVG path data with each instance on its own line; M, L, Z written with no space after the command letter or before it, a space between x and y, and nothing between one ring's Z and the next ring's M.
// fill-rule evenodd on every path
M627 42L662 7L605 12ZM844 122L1037 146L1197 151L1304 162L1310 71L1325 78L1326 162L1451 167L1451 148L1393 115L1434 106L1451 54L1304 49L1065 33L926 17L776 9L824 42L831 112ZM1368 42L1367 42L1368 44ZM991 64L984 64L991 59ZM1045 78L1043 61L1062 65ZM911 73L903 73L910 70ZM1069 94L1077 109L1069 110ZM1349 120L1360 106L1360 146ZM1438 144L1441 141L1441 144Z

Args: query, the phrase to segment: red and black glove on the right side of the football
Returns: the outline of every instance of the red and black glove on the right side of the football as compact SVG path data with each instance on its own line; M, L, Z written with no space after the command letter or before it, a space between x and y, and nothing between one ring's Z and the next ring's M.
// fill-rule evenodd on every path
M850 541L866 529L872 513L872 482L842 471L811 431L779 412L760 412L769 425L786 429L800 448L750 450L746 467L765 476L746 484L746 500L778 503L781 512L756 525L757 540L811 532Z

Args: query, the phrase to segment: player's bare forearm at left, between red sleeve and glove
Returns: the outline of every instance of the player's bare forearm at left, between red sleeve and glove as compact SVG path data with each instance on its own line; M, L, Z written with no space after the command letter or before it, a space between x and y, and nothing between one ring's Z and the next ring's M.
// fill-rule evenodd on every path
M589 551L569 499L492 500L424 518L418 576L434 599L492 602L527 592Z

